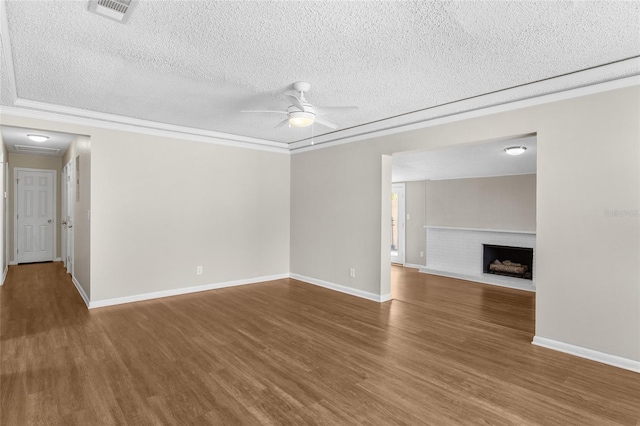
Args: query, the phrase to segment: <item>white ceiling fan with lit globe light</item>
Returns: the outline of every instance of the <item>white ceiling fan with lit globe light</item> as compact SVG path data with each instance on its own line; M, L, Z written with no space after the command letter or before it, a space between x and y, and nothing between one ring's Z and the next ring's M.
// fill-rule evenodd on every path
M286 111L276 110L242 110L240 112L268 112L274 114L285 114L287 118L278 123L275 127L282 127L285 124L289 124L293 127L307 127L313 123L322 124L330 129L337 129L338 125L330 120L327 120L324 116L333 113L356 111L356 106L345 107L319 107L313 106L304 97L304 93L308 92L311 88L311 84L298 81L293 83L293 88L299 93L298 96L287 94L287 98L291 101Z

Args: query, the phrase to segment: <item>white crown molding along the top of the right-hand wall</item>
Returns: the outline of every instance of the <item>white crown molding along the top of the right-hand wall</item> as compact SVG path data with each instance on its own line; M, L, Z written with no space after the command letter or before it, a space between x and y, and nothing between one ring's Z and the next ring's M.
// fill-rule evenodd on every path
M640 59L634 58L629 61L634 61L640 64ZM633 64L629 66L631 67L633 66ZM578 80L581 78L581 75L582 75L581 73L574 74L574 78L576 79L576 84L578 84ZM536 86L535 84L536 83L533 84L533 87L538 88L539 86ZM604 83L594 83L590 86L582 86L574 89L560 90L560 91L556 91L553 93L540 95L540 96L534 95L533 97L526 97L520 100L501 102L498 104L493 104L488 107L473 108L465 112L451 112L449 114L439 115L434 118L426 118L426 119L422 119L417 122L413 122L409 124L398 124L396 126L390 126L382 130L367 131L366 127L363 126L362 133L357 135L348 136L348 137L344 137L337 140L328 140L326 142L323 141L322 136L320 136L314 139L314 142L315 142L314 145L310 145L310 142L305 140L305 141L291 143L289 147L292 153L302 153L307 151L313 151L316 149L329 148L331 146L343 145L346 143L352 143L352 142L357 142L361 140L368 140L373 138L379 138L382 136L394 135L397 133L403 133L403 132L409 132L413 130L424 129L428 127L440 126L446 123L469 120L471 118L483 117L486 115L498 114L501 112L513 111L513 110L522 109L522 108L529 108L529 107L537 106L541 104L557 102L557 101L562 101L562 100L572 99L572 98L578 98L581 96L608 92L611 90L622 89L625 87L631 87L631 86L637 86L637 85L640 85L640 76L633 75L633 76L624 77L618 80L606 81ZM509 90L515 90L515 89L509 89ZM540 90L544 90L544 89L540 88ZM489 99L491 99L491 95L486 95L486 97L481 96L478 99L482 99L483 103L486 104L490 102ZM459 102L467 102L467 101L459 101ZM437 110L439 108L440 107L434 108L432 112L435 112L437 114ZM333 136L333 135L330 134L328 136Z

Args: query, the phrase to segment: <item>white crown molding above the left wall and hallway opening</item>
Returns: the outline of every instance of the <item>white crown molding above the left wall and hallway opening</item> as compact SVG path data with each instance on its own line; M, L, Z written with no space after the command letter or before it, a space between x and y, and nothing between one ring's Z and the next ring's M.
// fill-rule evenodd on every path
M83 112L85 110L82 109L59 107L58 105L45 104L43 102L35 102L26 99L16 99L15 105L17 105L17 107L0 106L0 114L33 118L38 120L56 121L59 123L73 124L77 126L90 126L99 129L138 133L150 136L159 136L173 139L177 138L194 142L232 146L236 148L255 149L258 151L279 152L285 154L289 153L289 145L284 142L248 138L244 136L236 136L232 134L196 129L193 127L176 126L171 124L157 123L155 121L133 119L119 115L96 113L93 111L86 111L87 113L84 114ZM71 113L67 112L69 110L77 110L78 112L76 112L76 114L80 116L70 115ZM110 118L108 119L107 117Z

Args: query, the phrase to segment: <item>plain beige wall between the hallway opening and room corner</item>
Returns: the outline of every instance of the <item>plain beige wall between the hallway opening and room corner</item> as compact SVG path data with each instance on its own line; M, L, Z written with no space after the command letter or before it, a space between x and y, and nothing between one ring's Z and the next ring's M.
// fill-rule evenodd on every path
M94 132L92 300L288 273L289 159Z

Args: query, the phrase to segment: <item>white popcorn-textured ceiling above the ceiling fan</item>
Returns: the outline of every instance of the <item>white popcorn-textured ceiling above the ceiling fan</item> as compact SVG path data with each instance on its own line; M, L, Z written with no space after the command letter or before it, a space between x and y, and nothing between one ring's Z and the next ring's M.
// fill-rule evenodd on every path
M313 104L360 107L328 117L337 139L640 55L640 2L140 1L126 24L87 1L6 11L20 99L287 143L312 130L240 110L285 109L294 81Z

